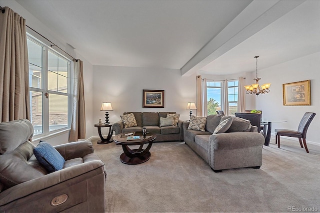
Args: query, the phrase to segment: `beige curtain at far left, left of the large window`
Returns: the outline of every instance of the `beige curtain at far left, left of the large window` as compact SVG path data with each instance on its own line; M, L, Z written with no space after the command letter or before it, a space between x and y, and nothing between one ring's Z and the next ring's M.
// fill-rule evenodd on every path
M30 120L25 19L9 7L0 12L0 122Z

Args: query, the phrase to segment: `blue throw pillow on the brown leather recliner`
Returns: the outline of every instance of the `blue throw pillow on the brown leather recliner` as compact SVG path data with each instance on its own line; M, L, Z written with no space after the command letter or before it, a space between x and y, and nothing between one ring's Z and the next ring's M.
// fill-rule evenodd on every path
M33 148L33 153L49 173L63 168L64 158L47 142L40 142Z

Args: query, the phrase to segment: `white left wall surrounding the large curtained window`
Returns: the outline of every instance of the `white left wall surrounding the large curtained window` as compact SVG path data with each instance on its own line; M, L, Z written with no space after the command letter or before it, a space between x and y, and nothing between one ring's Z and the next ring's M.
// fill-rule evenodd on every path
M84 79L84 99L85 99L85 115L86 115L86 136L87 138L92 136L93 121L92 121L92 65L85 60L81 55L79 55L76 50L70 48L69 45L63 41L58 34L51 31L47 26L45 26L40 20L36 19L31 13L24 9L15 0L0 0L0 5L2 7L8 6L14 12L18 13L20 16L25 18L26 25L54 42L58 47L66 51L68 54L72 55L74 58L83 61L83 79ZM65 132L56 137L47 137L41 140L46 140L52 145L67 143L69 137L69 132ZM37 143L37 141L33 141Z

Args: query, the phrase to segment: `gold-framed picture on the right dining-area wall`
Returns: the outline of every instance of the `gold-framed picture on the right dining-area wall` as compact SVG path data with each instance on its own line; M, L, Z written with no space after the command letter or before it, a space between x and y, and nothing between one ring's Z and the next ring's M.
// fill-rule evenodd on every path
M310 80L282 84L282 90L284 106L311 105Z

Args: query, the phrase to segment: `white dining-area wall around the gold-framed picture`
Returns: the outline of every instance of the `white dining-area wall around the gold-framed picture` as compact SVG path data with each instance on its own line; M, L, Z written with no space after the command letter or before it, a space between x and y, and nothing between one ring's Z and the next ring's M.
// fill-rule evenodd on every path
M258 70L260 83L271 83L270 92L256 97L252 95L255 106L250 109L262 110L263 119L286 120L285 123L272 123L274 129L297 130L305 112L314 112L316 116L307 131L307 141L320 144L320 52ZM255 74L255 73L254 73ZM284 106L282 84L310 80L311 106ZM253 80L252 80L253 82ZM297 142L297 139L295 139ZM272 143L272 142L271 142Z

